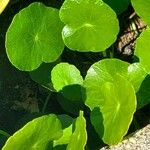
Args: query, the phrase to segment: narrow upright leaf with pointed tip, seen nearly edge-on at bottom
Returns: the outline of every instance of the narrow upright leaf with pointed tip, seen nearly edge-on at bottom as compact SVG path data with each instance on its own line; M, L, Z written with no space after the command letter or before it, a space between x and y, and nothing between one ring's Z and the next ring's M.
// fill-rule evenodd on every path
M66 150L84 150L86 142L86 120L83 116L83 112L80 111L80 115L75 122L75 130L70 137L70 141Z

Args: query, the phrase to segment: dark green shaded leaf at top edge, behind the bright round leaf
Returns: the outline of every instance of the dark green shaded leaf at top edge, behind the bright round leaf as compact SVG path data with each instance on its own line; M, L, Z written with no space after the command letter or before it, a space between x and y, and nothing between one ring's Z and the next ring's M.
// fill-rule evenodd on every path
M121 14L125 11L131 0L103 0L107 3L117 14Z

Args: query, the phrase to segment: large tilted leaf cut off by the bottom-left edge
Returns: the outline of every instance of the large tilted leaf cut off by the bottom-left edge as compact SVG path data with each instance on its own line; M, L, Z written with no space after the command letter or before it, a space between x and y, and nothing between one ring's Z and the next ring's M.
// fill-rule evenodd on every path
M46 115L27 123L8 139L2 150L46 150L50 142L61 136L58 118L55 115Z

